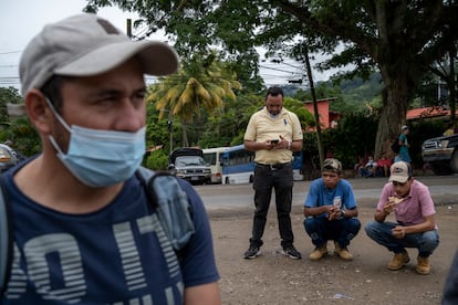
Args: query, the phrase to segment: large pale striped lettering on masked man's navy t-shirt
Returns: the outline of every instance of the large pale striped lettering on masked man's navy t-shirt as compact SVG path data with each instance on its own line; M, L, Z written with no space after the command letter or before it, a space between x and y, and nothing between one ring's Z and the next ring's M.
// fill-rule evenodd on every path
M166 236L163 227L156 215L146 215L132 222L113 224L113 239L118 249L121 266L127 291L136 291L147 286L145 271L140 261L133 225L142 234L155 233L167 264L168 276L174 277L180 273L180 267L176 254ZM94 233L96 238L96 233ZM102 236L101 236L102 238ZM103 236L110 238L110 236ZM28 282L32 283L35 293L41 295L44 301L63 301L69 304L83 302L87 294L87 283L83 267L83 255L77 244L77 240L70 233L48 233L37 235L23 245L23 257L20 249L14 243L14 256L11 270L11 277L8 283L7 298L20 299L28 293ZM21 266L20 262L24 264ZM59 270L59 274L52 270ZM153 275L154 276L154 275ZM184 294L184 284L177 281L174 286L164 287L163 294L167 304L176 304L180 301L175 299L174 292ZM102 301L101 301L102 302ZM124 301L112 304L125 304ZM150 294L138 295L128 301L128 304L152 304Z

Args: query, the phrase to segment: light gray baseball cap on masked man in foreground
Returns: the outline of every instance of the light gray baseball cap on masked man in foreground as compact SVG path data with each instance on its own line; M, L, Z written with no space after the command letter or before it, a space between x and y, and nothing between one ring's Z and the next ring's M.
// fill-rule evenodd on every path
M32 39L19 64L21 92L41 88L52 75L92 76L136 56L145 74L167 75L178 55L158 41L132 41L107 20L83 13L48 24Z

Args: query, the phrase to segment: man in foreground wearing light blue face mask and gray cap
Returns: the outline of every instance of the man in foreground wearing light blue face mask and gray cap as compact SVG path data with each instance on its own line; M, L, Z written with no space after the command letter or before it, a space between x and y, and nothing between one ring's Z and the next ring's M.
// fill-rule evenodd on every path
M29 43L20 77L42 154L3 175L14 257L0 303L220 304L200 198L180 181L196 232L178 262L160 246L135 176L145 152L144 74L177 67L167 44L133 42L94 14L49 24Z

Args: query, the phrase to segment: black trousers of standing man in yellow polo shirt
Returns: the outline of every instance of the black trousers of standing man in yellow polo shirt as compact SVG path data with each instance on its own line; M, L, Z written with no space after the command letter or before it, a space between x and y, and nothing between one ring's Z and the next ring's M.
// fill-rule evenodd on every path
M291 200L292 200L293 175L291 165L278 169L256 166L254 168L254 217L250 244L262 245L267 214L269 211L272 189L275 190L277 218L281 245L283 248L293 244L294 236L291 229Z

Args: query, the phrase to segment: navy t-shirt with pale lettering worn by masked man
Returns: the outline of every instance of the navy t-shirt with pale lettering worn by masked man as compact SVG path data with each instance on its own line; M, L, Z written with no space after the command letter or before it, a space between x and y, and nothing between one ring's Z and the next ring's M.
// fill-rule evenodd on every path
M69 214L24 196L15 170L3 175L14 257L1 304L183 304L185 287L218 281L208 218L189 183L180 181L196 233L179 263L135 176L103 209Z

